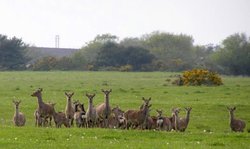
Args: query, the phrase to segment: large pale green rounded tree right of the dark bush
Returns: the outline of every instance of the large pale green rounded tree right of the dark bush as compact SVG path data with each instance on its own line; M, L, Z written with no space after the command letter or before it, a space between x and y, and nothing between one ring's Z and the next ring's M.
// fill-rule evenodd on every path
M193 39L191 36L153 32L144 35L142 39L145 48L156 56L155 64L160 63L161 69L180 71L192 67Z

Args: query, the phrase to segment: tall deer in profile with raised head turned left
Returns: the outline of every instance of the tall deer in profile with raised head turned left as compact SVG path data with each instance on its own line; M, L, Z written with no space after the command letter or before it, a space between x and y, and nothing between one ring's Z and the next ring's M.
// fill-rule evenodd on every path
M54 107L51 104L47 104L44 103L42 100L42 88L39 88L38 90L36 90L35 92L33 92L31 94L32 97L37 97L37 101L38 101L38 116L39 119L43 120L43 126L45 126L46 123L46 119L49 118L49 125L51 126L51 120L53 117L53 112L54 112ZM37 120L36 120L37 121Z

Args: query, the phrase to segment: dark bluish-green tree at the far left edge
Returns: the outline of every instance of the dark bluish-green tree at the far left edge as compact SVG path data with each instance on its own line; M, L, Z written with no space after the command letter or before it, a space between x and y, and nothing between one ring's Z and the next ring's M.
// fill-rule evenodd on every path
M24 69L28 61L24 56L27 46L21 39L0 35L0 70Z

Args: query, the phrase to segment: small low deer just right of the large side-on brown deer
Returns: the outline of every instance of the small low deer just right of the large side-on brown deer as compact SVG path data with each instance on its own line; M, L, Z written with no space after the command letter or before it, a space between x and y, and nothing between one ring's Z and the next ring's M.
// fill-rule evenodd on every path
M157 129L170 131L172 129L172 123L168 117L162 115L162 110L156 110L157 114Z

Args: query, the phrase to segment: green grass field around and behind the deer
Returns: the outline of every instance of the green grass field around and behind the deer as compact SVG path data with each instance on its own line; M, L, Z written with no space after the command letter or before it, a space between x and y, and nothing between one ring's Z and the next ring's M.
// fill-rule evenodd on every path
M250 78L223 76L219 87L179 87L175 73L166 72L0 72L0 148L250 148ZM189 126L184 133L85 129L37 128L33 113L37 99L31 93L43 88L45 102L56 102L56 111L64 111L65 91L74 91L87 107L85 93L96 93L94 104L104 100L101 89L112 89L111 106L137 109L141 98L152 97L151 115L163 109L171 115L173 107L191 106ZM20 99L20 111L26 126L14 127L13 99ZM226 106L236 106L235 115L245 120L244 133L231 132ZM185 116L184 110L180 113Z

